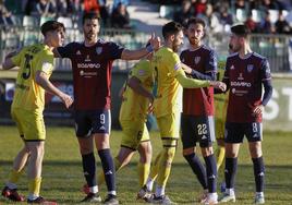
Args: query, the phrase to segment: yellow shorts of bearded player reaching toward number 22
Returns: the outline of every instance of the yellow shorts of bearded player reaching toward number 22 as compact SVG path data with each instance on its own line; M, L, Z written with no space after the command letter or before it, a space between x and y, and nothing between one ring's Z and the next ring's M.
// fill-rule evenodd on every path
M181 112L173 112L157 118L157 124L159 128L161 138L174 138L180 137L181 125Z

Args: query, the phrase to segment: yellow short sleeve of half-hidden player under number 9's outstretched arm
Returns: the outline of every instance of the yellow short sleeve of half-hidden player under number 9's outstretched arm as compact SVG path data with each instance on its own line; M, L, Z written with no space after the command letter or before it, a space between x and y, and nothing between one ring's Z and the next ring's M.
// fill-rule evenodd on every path
M142 60L136 63L132 70L132 76L137 77L141 82L148 79L150 74L150 62L146 60Z

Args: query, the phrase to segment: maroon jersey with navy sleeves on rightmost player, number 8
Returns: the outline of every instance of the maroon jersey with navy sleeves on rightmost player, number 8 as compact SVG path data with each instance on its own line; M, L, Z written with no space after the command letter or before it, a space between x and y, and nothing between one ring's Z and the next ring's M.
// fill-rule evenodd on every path
M253 108L261 102L263 81L271 81L267 59L255 52L244 59L233 53L227 59L223 81L230 88L227 121L261 122L261 114L254 116Z

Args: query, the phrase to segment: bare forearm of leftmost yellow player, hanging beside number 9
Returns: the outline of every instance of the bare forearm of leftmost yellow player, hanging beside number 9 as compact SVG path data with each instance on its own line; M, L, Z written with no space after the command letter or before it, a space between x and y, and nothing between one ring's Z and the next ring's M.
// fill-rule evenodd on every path
M52 95L58 96L66 108L69 108L73 104L73 99L70 95L64 94L60 89L58 89L48 79L48 75L42 71L36 72L35 81L39 84L45 91L49 92Z

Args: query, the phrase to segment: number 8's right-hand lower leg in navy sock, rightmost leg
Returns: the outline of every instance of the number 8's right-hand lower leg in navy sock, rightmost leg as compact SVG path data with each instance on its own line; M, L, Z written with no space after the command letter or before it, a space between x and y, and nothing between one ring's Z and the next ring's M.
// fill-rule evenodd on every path
M250 142L250 153L254 165L254 177L256 184L255 203L264 204L265 165L261 152L261 142Z

